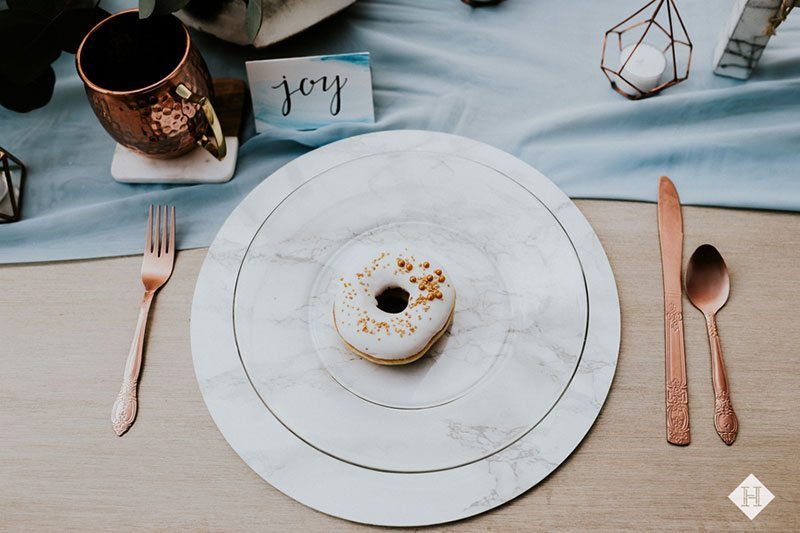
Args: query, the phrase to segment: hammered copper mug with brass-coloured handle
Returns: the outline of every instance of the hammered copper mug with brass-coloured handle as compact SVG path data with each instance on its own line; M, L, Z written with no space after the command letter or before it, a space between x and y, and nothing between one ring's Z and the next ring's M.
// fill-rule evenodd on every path
M111 15L86 34L75 62L95 115L121 145L157 159L196 145L225 157L211 75L177 18Z

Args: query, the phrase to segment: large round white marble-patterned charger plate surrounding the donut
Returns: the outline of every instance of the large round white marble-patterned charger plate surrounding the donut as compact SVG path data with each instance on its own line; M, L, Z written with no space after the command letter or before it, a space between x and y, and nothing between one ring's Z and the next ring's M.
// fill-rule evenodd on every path
M430 253L458 294L419 361L374 365L332 323L351 257ZM192 354L239 456L327 514L458 520L527 491L575 449L616 368L620 313L578 208L519 159L443 133L352 137L287 164L203 264Z

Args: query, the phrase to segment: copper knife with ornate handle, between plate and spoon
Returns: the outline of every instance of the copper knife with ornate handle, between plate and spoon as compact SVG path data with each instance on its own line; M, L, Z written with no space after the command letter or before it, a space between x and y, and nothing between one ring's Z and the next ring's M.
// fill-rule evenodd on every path
M689 433L689 391L683 352L683 219L675 185L666 176L658 181L658 236L664 274L664 346L667 442L685 446Z

